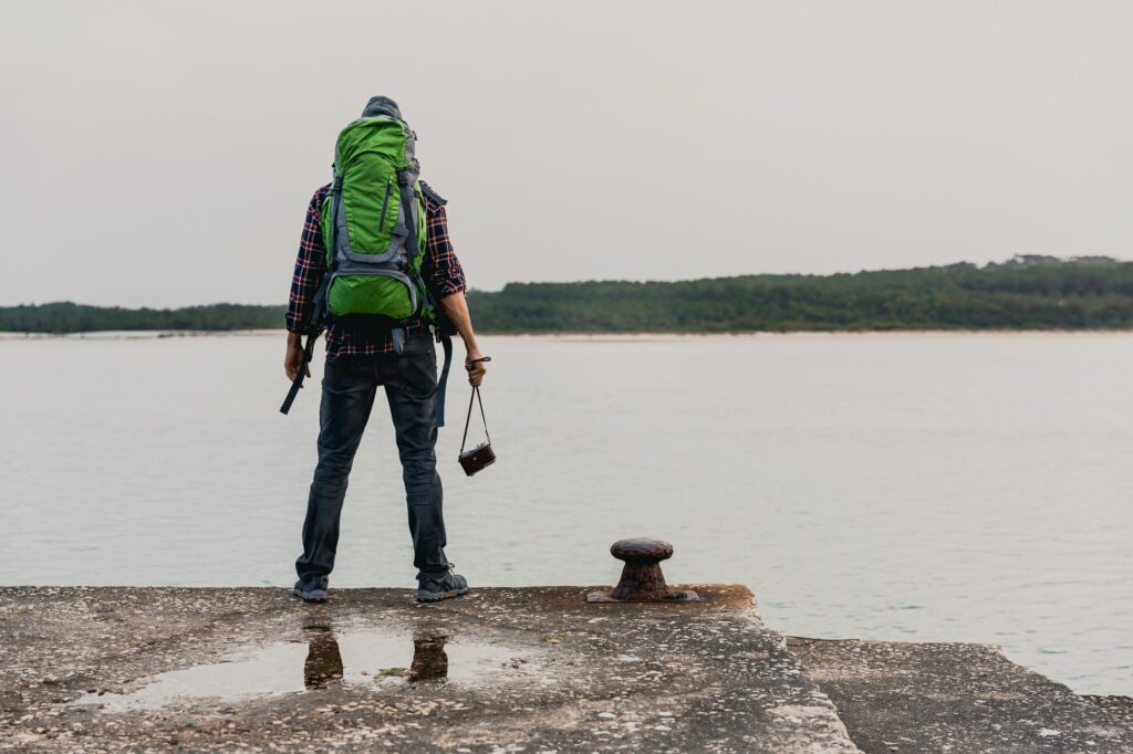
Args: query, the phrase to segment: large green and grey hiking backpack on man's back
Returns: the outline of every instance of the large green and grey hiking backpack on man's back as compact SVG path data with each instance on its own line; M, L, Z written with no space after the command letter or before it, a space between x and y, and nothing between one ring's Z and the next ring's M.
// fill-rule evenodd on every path
M322 207L326 314L350 328L395 331L434 320L421 281L425 205L416 135L395 103L374 97L342 129Z

